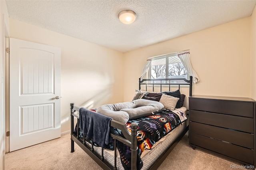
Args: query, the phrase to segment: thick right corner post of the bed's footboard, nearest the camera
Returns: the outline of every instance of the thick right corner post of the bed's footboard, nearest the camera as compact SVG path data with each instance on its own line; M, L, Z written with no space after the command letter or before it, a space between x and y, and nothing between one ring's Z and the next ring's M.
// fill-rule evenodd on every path
M132 123L131 124L131 136L132 136L132 147L131 147L131 151L132 151L132 170L136 170L137 166L136 166L136 162L137 162L137 128L138 125L136 123Z

